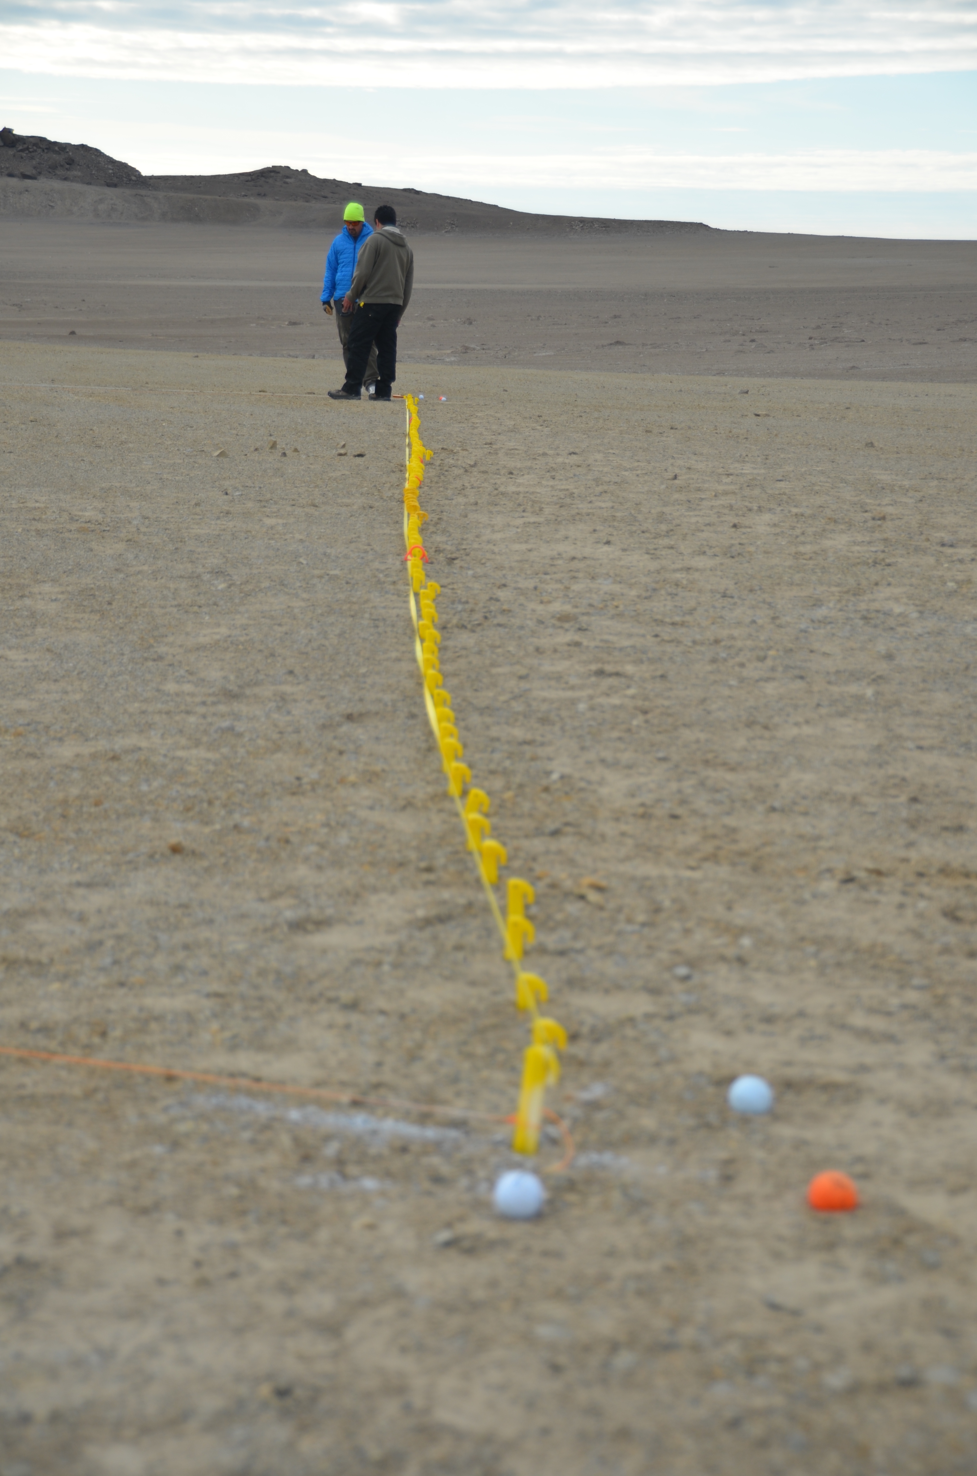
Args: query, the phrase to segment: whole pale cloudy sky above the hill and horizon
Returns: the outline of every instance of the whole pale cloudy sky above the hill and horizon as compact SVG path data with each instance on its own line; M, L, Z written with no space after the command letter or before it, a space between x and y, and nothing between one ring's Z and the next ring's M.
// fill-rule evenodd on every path
M977 6L0 4L4 117L146 173L977 238Z

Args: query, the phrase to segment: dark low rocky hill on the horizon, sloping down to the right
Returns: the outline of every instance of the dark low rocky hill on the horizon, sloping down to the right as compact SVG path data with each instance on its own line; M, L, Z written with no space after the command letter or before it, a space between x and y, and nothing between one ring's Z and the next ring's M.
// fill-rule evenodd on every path
M114 198L108 190L120 193ZM285 164L245 174L140 174L87 143L0 128L0 213L7 215L322 227L338 218L348 199L362 199L367 215L379 204L393 205L412 232L674 235L710 229L698 221L536 215L410 186L317 179Z

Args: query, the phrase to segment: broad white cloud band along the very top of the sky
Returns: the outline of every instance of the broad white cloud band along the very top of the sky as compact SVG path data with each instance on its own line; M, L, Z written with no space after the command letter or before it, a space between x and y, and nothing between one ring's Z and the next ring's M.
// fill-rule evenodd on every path
M970 0L28 0L18 15L0 25L4 65L71 77L592 89L977 68Z

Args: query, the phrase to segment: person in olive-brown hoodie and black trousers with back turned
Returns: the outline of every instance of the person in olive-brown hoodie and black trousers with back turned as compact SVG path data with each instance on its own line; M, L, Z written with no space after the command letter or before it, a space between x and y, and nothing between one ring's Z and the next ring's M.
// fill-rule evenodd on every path
M370 348L376 344L376 393L388 401L397 378L397 328L413 289L413 251L397 230L393 205L378 205L373 235L360 249L344 311L356 303L347 344L345 384L329 390L331 400L359 400Z

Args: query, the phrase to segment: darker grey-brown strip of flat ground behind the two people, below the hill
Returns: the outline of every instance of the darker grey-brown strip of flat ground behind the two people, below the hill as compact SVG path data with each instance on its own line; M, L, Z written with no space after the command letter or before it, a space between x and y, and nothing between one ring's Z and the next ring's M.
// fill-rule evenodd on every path
M319 294L335 229L0 218L0 338L332 359ZM977 379L973 242L412 239L406 363Z

